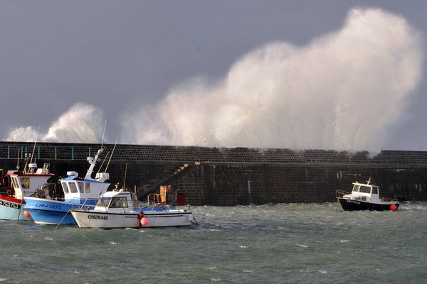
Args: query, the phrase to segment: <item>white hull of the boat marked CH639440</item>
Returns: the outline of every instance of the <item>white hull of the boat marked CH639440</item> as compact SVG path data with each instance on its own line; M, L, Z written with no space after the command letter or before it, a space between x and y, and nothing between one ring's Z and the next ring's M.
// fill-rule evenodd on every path
M111 213L71 210L71 214L80 228L139 228L138 212ZM189 226L193 214L181 210L144 210L144 217L148 219L148 222L142 227Z

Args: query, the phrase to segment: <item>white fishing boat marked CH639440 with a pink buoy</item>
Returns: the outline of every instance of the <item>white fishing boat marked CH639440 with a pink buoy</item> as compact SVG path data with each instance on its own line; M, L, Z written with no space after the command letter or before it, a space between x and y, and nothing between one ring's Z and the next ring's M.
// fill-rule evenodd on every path
M175 199L176 200L176 199ZM105 192L94 209L71 209L80 228L140 228L154 226L189 226L196 220L189 205L147 204L141 207L132 192Z

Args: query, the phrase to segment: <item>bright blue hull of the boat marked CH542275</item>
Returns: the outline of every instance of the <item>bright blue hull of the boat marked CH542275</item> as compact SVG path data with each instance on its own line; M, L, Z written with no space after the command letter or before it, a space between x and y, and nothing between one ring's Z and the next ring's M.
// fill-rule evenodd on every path
M81 204L57 200L45 200L35 197L24 197L26 204L23 207L36 224L43 225L77 225L70 209L80 208ZM93 205L85 205L93 209Z

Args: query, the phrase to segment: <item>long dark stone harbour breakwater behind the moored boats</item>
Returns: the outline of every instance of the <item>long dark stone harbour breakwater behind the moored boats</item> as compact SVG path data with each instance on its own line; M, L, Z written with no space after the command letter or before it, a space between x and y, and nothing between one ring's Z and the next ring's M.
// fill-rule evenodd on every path
M39 167L65 176L88 169L86 158L100 144L0 142L0 168L23 168L26 155ZM258 148L205 148L105 144L101 171L108 165L112 186L135 188L140 200L159 185L172 185L193 205L334 202L336 190L371 178L381 195L427 201L427 152L324 151Z

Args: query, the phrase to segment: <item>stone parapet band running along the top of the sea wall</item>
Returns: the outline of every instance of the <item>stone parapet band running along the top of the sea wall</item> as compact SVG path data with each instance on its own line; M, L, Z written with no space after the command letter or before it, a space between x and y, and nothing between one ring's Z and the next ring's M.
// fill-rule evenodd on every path
M34 152L37 159L86 160L100 144L0 142L0 159L24 158ZM107 155L114 145L103 145ZM111 152L110 152L111 153ZM294 151L281 148L208 148L196 146L146 146L121 144L112 160L167 161L182 163L286 163L427 165L426 151Z

